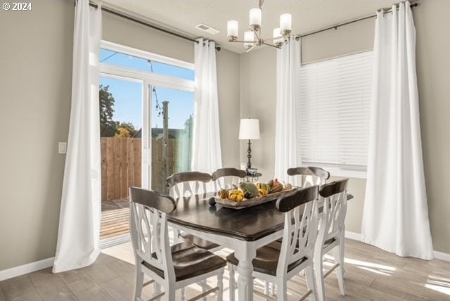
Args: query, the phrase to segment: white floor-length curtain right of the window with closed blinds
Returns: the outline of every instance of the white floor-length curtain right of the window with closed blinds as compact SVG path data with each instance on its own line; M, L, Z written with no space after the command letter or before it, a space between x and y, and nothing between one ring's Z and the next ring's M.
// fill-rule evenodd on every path
M362 238L433 258L420 141L416 30L409 2L378 12Z

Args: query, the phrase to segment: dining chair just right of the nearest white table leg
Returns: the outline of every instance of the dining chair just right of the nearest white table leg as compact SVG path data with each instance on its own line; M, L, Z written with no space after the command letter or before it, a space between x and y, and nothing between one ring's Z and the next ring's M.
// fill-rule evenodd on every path
M301 300L308 295L310 300L316 300L313 255L317 236L318 191L319 186L309 186L298 188L294 193L278 198L276 209L285 212L283 241L274 241L257 249L257 255L252 261L252 276L276 284L278 301L288 300L287 282L302 270L305 271L309 290ZM239 262L234 253L226 257L226 261L230 271L230 300L234 301L236 289L234 272ZM254 290L254 293L268 300L274 300L267 295L267 288L264 293L257 290Z

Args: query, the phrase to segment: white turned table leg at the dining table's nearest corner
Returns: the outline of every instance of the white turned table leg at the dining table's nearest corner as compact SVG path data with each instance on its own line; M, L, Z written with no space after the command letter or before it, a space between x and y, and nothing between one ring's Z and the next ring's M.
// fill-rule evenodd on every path
M252 243L241 245L235 252L238 264L238 300L253 300L253 264L252 260L256 256L256 248Z

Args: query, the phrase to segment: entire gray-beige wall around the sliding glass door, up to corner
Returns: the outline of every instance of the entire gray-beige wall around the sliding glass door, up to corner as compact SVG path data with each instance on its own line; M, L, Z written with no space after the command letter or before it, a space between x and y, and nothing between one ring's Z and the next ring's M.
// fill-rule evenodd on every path
M72 81L74 5L0 10L0 271L55 255ZM103 39L193 62L193 43L103 14ZM238 166L239 55L217 53L222 158Z

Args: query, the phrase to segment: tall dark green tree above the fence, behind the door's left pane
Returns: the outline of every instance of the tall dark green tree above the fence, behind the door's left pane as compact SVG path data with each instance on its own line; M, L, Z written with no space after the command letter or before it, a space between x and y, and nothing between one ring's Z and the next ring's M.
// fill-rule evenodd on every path
M119 122L113 120L114 114L114 97L109 86L100 85L100 136L113 137L117 133Z

